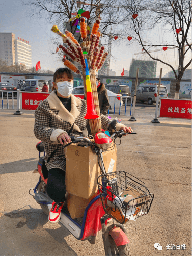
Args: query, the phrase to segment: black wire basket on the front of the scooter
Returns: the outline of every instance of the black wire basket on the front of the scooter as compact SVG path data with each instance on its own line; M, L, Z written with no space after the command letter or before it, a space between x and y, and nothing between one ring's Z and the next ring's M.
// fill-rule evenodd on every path
M131 174L107 173L98 177L97 185L105 213L120 224L148 214L154 195Z

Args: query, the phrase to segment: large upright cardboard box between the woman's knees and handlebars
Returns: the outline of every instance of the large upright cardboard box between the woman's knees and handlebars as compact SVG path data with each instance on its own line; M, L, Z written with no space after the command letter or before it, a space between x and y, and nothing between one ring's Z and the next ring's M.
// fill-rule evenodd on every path
M68 193L90 198L97 190L97 178L101 175L96 153L90 147L70 145L66 147L66 190ZM116 171L117 149L103 152L106 173Z

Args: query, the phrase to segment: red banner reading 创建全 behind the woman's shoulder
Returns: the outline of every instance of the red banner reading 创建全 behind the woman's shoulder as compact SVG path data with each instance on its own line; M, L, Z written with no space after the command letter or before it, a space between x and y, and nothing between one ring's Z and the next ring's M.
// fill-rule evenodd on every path
M49 96L50 93L22 92L22 109L36 110L38 105Z

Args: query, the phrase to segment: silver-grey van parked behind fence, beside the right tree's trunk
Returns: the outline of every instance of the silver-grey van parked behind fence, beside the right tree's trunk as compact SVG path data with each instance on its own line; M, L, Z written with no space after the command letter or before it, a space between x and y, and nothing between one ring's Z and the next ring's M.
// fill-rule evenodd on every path
M142 103L147 101L149 105L156 103L158 93L158 85L140 85L136 89L136 100L140 100ZM131 92L131 96L134 96L134 91ZM168 90L165 85L160 86L159 92L160 98L168 97Z

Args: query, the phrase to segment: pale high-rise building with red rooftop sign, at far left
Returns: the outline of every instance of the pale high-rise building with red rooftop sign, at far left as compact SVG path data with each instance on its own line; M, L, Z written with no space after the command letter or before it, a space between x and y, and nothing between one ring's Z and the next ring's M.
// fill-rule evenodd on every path
M20 37L16 39L13 33L0 33L0 58L8 66L19 64L31 67L31 45Z

